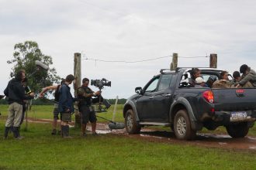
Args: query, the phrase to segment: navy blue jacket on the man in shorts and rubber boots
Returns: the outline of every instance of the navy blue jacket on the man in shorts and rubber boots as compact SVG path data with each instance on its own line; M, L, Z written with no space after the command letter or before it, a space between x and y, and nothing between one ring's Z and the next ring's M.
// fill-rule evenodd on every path
M69 113L74 112L73 102L75 101L74 97L71 94L71 88L67 86L66 83L62 84L59 89L59 112L64 113L69 110Z

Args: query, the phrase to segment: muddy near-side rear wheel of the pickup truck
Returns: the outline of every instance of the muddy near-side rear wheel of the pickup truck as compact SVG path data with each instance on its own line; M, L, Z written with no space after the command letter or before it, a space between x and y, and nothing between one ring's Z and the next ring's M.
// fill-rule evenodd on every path
M175 136L182 140L193 140L196 131L192 130L187 110L178 110L174 121Z

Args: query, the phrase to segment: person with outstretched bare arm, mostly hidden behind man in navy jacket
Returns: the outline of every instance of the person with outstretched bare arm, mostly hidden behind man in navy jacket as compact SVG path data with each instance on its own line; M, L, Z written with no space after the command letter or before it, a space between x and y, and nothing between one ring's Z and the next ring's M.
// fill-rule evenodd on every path
M57 134L57 120L59 119L59 108L58 108L58 102L59 102L59 89L61 85L65 83L65 80L61 80L61 84L55 85L55 86L50 86L50 87L44 87L43 90L41 91L39 97L43 98L43 94L47 93L48 90L55 90L54 92L54 120L53 120L53 130L51 132L52 135Z

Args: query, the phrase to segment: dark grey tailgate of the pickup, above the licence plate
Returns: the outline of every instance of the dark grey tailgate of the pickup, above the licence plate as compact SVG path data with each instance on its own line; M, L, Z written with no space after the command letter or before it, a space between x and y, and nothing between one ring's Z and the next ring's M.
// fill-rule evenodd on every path
M256 110L256 88L212 90L215 110Z

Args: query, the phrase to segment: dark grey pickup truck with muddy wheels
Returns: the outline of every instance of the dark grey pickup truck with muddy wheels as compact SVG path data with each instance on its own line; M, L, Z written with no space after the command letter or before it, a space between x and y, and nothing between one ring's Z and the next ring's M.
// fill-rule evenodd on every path
M218 80L222 70L200 69L204 80ZM256 89L193 87L190 68L161 70L144 88L137 87L123 108L126 131L147 125L169 126L178 139L193 140L203 127L224 126L233 138L244 138L256 120Z

